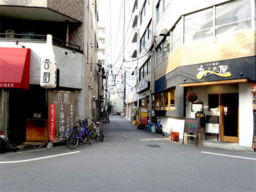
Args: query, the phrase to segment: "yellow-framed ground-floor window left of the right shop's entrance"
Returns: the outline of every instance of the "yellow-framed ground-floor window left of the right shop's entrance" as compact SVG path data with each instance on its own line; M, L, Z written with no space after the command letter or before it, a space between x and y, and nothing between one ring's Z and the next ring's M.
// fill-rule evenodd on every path
M155 110L175 110L175 88L155 96Z

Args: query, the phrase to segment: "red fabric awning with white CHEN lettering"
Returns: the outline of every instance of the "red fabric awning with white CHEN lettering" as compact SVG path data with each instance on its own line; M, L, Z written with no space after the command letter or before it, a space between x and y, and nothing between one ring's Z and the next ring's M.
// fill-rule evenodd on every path
M29 89L29 48L0 48L0 88Z

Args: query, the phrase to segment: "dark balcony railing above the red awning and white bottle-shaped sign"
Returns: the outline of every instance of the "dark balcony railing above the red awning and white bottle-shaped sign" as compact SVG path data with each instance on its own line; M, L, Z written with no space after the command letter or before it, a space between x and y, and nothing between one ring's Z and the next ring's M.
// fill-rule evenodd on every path
M17 34L17 33L0 33L1 41L3 39L7 41L11 41L14 39L22 39L22 42L36 42L36 41L46 41L46 35L31 35L31 34ZM76 50L80 50L80 46L76 44L71 44L69 42L65 42L61 39L52 38L52 44L58 45L58 46L65 46L68 48L74 48Z

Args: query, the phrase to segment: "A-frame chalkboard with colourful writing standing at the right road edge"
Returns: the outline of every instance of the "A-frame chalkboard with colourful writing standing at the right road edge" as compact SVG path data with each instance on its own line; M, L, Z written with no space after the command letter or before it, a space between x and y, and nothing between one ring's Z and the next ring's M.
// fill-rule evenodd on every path
M185 118L182 144L184 144L185 136L186 136L186 138L188 138L187 136L196 137L196 140L198 140L199 123L200 123L199 118ZM187 142L188 142L188 140L187 140ZM197 141L196 141L196 146L197 146Z

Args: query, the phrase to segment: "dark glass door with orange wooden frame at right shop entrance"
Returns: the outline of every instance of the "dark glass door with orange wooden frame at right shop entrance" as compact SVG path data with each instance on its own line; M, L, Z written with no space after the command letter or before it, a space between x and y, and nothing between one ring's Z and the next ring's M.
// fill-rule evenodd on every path
M221 94L221 141L238 143L238 93Z

